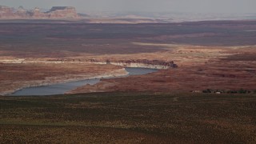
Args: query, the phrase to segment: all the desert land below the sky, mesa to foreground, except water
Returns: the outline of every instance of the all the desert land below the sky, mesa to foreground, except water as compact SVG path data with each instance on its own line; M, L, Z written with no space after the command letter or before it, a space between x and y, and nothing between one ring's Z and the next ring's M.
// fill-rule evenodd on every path
M0 143L256 142L256 21L1 10ZM11 96L88 79L99 82Z

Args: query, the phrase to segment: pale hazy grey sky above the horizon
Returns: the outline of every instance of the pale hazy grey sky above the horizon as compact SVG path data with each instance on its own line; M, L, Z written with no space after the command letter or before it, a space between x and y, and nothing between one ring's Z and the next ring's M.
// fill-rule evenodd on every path
M79 13L90 11L113 12L191 12L191 13L256 13L255 0L2 0L2 6L26 9L50 9L51 6L74 6Z

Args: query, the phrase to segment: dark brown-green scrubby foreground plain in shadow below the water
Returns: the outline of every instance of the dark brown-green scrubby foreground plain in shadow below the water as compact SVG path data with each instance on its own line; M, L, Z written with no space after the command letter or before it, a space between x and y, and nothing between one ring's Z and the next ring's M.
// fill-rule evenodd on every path
M2 143L254 143L256 138L255 94L0 97L0 106Z

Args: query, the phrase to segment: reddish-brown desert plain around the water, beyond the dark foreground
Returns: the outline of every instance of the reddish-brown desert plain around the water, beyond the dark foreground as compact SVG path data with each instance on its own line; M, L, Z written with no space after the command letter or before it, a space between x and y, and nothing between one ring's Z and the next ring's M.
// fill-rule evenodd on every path
M2 94L40 81L66 82L114 70L118 76L126 74L123 66L159 71L105 79L69 93L255 90L253 21L1 25ZM27 70L30 76L24 76Z

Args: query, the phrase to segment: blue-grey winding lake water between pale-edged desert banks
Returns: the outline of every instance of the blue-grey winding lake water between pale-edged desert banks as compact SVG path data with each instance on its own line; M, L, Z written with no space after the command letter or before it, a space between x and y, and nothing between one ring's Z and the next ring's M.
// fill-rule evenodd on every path
M126 68L126 71L129 72L129 75L142 75L156 72L155 69L146 69L146 68ZM22 90L16 91L10 96L21 96L21 95L54 95L54 94L65 94L67 91L73 90L79 86L85 86L87 84L94 85L100 81L97 79L87 79L76 82L66 82L50 86L37 86L37 87L28 87Z

